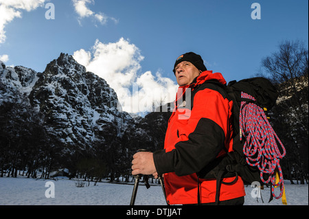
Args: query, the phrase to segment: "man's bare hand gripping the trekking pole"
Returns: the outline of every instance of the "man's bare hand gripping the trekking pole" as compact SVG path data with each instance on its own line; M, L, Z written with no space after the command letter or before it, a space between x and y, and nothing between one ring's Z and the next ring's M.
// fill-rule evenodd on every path
M133 155L132 174L157 175L152 152L138 152Z

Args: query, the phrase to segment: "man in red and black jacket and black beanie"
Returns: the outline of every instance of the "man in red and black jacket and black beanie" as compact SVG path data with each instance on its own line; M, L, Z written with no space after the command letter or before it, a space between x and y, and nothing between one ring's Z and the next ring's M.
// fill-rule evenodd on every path
M232 102L218 91L208 89L207 80L222 85L227 82L221 73L207 71L201 56L189 52L174 64L179 91L168 123L164 150L139 152L133 156L133 175L164 174L165 191L170 205L191 205L216 202L216 179L199 178L199 172L231 151ZM186 100L190 92L190 100ZM240 177L223 178L219 205L242 205L244 183Z

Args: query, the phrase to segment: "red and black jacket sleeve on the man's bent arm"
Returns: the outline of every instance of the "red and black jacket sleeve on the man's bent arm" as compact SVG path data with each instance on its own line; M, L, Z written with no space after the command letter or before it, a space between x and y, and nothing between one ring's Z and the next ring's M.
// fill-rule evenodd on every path
M177 130L179 138L185 140L169 152L159 150L153 154L157 172L185 176L201 171L216 159L225 147L228 112L229 102L220 93L210 89L198 91L189 119Z

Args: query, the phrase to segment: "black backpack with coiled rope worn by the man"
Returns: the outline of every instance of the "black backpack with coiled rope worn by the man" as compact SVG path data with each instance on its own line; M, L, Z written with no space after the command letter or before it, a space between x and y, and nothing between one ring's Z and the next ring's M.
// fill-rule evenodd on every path
M209 80L205 82L205 86L208 89L218 91L223 97L227 97L228 100L233 101L233 151L227 152L225 157L217 158L209 163L201 172L197 173L198 178L216 178L217 204L221 183L225 185L236 183L238 176L241 176L244 183L251 184L253 182L259 182L261 185L271 183L273 185L271 194L275 198L281 198L282 191L279 196L275 196L274 187L278 185L284 187L279 159L285 156L285 149L265 115L265 111L275 105L278 97L277 90L273 84L266 78L249 78L240 80L239 82L229 82L227 86L223 86L216 80ZM253 121L256 120L256 117L259 117L262 121ZM249 131L244 130L246 126L251 126L249 127ZM260 135L260 132L263 132L263 128L268 129L266 130L268 132L266 135L272 135L270 137L272 138L271 143L269 143L268 139L266 140L265 133L262 133L262 135L264 134L263 137L260 136L262 140L254 139L256 137L254 135ZM263 143L266 143L265 141L268 141L267 148L263 145ZM281 145L281 150L278 149L277 143ZM271 155L265 153L263 150L271 150ZM267 159L271 161L272 156L275 157L276 162L268 166ZM266 162L266 165L263 162ZM276 165L275 168L274 165ZM279 172L279 183L275 182L276 172ZM236 176L234 181L229 183L222 182L222 178L231 176ZM199 196L200 192L198 187L198 203Z

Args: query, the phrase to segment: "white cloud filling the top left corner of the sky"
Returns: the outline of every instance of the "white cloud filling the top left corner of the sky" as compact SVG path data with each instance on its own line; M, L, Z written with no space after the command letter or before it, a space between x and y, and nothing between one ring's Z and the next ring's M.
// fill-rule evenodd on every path
M48 0L0 0L0 43L4 43L5 25L14 18L21 18L22 10L30 12L42 7Z

